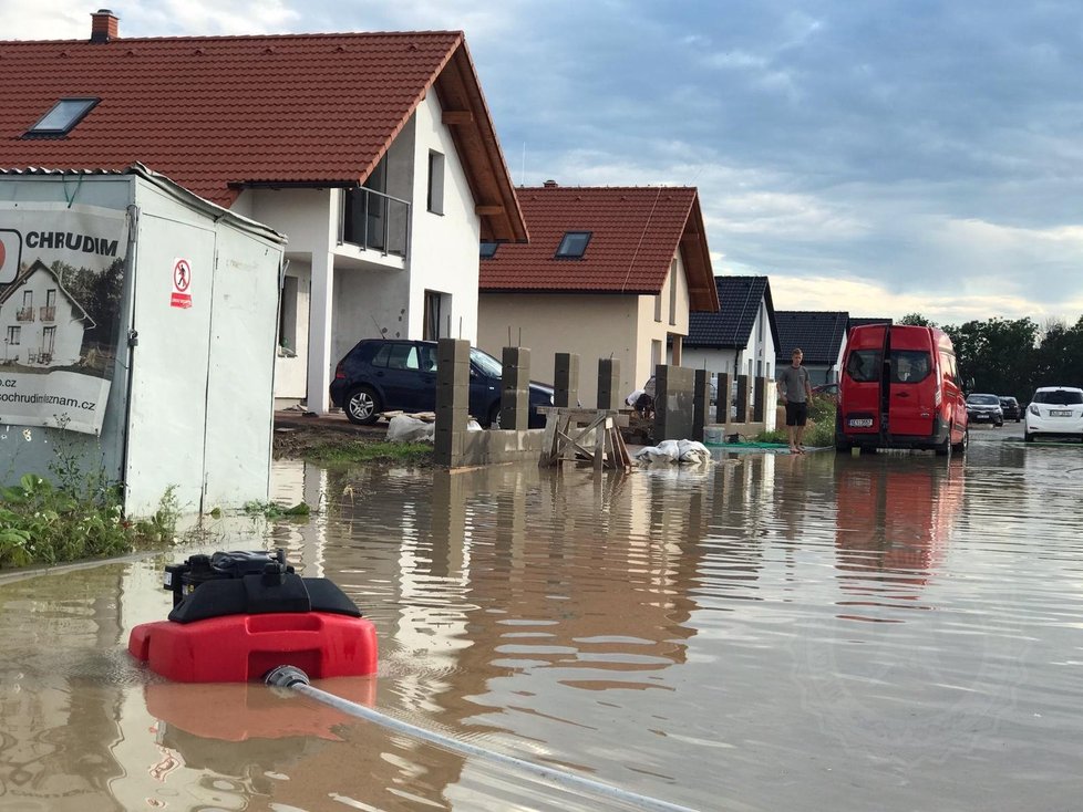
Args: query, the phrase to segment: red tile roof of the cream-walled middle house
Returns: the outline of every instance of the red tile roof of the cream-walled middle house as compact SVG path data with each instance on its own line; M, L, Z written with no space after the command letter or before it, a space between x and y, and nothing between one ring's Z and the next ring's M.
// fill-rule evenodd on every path
M519 187L529 244L481 263L482 292L657 294L681 248L692 310L716 311L699 195L691 187ZM568 231L590 231L582 259L555 259Z

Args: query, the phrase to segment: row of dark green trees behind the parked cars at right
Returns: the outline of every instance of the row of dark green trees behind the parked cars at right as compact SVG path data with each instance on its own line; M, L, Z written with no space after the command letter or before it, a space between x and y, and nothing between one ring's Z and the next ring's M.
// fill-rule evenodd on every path
M1030 402L1039 386L1083 386L1083 316L1069 326L1051 319L988 319L937 324L910 313L901 324L939 327L951 339L967 392L1012 395Z

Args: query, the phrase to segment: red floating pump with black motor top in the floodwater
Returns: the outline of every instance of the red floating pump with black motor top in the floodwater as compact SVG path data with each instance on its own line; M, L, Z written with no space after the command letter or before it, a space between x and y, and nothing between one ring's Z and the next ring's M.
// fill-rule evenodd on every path
M372 622L327 579L301 577L286 553L217 552L165 568L167 621L132 629L127 649L177 683L246 683L292 665L313 679L377 670Z

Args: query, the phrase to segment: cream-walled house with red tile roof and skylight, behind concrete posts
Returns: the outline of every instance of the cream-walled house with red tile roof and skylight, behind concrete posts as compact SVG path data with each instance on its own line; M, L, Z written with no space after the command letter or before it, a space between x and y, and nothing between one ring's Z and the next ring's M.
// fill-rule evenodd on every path
M555 353L577 353L588 407L599 358L620 362L628 393L656 365L680 365L689 313L719 310L698 191L550 180L518 200L529 243L482 243L478 346L529 347L545 379Z

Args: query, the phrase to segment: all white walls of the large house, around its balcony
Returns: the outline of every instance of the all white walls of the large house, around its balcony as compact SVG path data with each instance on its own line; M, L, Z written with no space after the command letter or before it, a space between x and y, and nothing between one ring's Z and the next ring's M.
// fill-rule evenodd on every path
M345 261L347 254L372 264L380 258L337 246L341 189L249 189L233 207L289 238L287 274L298 279L298 346L290 347L296 357L279 353L275 396L280 405L303 399L311 410L324 412L334 365L361 339L423 337L426 291L443 294L440 335L476 343L481 222L441 117L436 94L430 93L386 155L386 194L411 201L404 270L391 260L386 268ZM443 214L427 210L430 150L444 156ZM337 253L342 254L338 262Z

